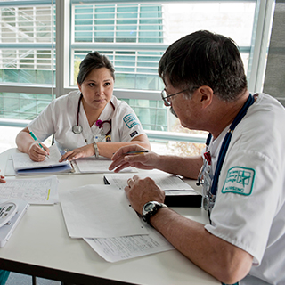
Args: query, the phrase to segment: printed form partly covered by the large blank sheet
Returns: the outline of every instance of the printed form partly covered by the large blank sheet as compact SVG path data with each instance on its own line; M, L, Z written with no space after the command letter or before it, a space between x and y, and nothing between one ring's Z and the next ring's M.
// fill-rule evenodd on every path
M84 239L102 258L117 262L175 249L159 232L146 224L149 235L109 239Z

